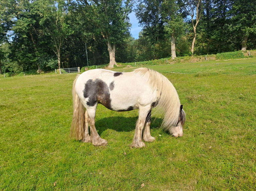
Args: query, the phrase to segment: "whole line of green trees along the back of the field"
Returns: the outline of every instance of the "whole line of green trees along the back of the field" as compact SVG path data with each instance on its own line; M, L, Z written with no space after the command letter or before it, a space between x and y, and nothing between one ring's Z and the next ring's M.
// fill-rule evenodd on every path
M0 0L0 5L0 74L256 49L256 1ZM139 39L129 32L132 11L143 28Z

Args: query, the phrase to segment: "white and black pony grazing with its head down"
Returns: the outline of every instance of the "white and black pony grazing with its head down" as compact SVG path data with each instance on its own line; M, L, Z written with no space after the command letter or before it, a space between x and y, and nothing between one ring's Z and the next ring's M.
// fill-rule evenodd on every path
M144 147L142 139L149 142L155 140L150 135L150 121L151 109L156 106L165 113L162 126L174 137L183 135L185 112L178 94L171 82L154 70L139 68L133 72L114 72L94 69L75 79L71 133L82 142L105 146L107 141L99 136L95 128L98 103L114 111L139 109L131 147Z

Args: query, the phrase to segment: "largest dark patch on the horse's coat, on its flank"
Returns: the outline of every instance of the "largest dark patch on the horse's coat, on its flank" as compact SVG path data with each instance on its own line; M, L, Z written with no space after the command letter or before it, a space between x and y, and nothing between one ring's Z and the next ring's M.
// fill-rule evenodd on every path
M100 80L88 80L85 84L84 98L88 98L86 102L89 106L94 106L97 102L111 109L111 98L108 85Z

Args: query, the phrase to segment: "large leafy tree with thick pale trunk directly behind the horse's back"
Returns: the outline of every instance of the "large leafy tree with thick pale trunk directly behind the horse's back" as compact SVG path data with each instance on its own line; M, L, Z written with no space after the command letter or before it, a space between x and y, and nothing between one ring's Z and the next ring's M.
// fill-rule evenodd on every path
M77 0L74 7L76 13L90 25L89 32L105 40L110 59L109 68L113 68L116 65L116 45L130 36L128 14L132 10L131 1Z

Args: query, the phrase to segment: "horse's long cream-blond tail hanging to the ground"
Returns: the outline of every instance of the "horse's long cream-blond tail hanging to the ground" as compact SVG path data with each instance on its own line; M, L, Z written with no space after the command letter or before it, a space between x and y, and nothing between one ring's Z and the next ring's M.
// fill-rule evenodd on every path
M75 85L77 82L79 75L77 75L76 79L73 83L73 118L71 124L70 134L75 137L76 140L82 140L84 136L84 124L85 124L85 107L80 100L79 96L76 93Z

